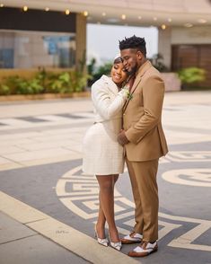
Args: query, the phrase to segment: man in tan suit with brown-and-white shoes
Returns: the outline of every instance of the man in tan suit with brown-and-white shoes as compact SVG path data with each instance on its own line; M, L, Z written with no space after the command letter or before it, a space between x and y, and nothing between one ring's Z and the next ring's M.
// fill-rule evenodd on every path
M140 242L128 255L145 257L158 249L156 173L159 158L168 152L161 123L164 83L161 74L146 59L144 38L125 38L119 41L119 49L125 68L135 75L123 109L123 130L118 141L125 146L136 224L122 243Z

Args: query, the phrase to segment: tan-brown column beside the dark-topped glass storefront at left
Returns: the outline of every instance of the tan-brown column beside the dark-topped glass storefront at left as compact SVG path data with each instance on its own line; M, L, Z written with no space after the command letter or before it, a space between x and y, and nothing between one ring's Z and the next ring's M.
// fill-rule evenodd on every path
M86 17L84 14L76 14L76 68L81 70L81 66L86 62Z

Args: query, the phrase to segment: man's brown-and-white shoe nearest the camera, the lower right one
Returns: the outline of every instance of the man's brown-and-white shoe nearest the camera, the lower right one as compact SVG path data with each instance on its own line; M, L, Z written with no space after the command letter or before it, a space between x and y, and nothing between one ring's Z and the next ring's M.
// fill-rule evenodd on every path
M133 251L128 252L130 257L145 257L158 250L157 242L142 242L140 246L137 246Z

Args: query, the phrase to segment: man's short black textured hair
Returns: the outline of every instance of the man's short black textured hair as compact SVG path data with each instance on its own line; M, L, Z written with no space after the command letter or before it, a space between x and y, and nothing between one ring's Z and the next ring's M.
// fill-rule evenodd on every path
M119 49L122 50L126 48L136 48L146 56L145 38L139 38L134 35L130 38L125 37L125 40L119 40Z

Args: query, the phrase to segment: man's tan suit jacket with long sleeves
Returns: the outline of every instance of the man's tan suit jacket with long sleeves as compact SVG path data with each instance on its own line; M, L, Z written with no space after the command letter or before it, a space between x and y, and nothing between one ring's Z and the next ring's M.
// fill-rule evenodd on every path
M130 141L125 145L128 161L150 161L167 154L162 128L164 92L161 74L146 61L136 73L133 98L123 108L123 128Z

